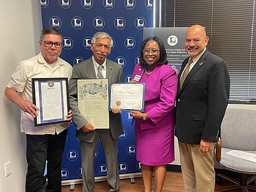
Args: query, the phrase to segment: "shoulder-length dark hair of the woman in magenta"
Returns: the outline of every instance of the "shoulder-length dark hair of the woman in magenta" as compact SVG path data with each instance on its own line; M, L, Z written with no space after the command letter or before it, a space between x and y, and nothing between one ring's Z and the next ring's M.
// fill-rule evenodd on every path
M143 49L144 49L146 43L150 40L156 41L159 46L159 49L160 49L160 59L158 60L157 65L168 64L167 54L165 51L165 45L163 44L163 41L158 37L148 37L145 40L143 40L143 42L141 43L140 59L139 59L140 65L148 66L148 63L146 63L145 60L143 59Z

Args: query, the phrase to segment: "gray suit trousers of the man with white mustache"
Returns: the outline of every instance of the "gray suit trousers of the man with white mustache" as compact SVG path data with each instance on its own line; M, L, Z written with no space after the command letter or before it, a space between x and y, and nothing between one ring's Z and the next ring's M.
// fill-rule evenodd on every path
M117 161L117 139L114 140L109 129L98 129L92 143L80 140L83 192L92 192L94 180L94 158L99 138L107 162L107 182L109 191L119 191L119 172Z

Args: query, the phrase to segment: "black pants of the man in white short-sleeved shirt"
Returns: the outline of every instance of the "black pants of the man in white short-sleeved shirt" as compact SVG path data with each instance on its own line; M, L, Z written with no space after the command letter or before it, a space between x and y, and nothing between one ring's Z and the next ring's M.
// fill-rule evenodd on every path
M26 135L27 175L26 192L41 192L47 160L48 185L46 192L62 191L61 165L67 129L55 135Z

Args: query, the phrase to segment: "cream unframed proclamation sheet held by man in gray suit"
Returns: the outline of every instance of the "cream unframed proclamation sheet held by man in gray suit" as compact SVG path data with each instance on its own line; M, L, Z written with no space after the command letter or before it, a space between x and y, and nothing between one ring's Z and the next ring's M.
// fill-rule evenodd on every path
M109 129L108 79L77 80L78 108L96 129Z

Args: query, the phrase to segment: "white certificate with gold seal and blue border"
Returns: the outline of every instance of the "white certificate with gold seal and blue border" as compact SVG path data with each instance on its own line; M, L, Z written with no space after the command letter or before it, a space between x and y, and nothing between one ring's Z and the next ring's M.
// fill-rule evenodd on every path
M144 111L145 84L123 83L110 86L110 107L121 110Z

